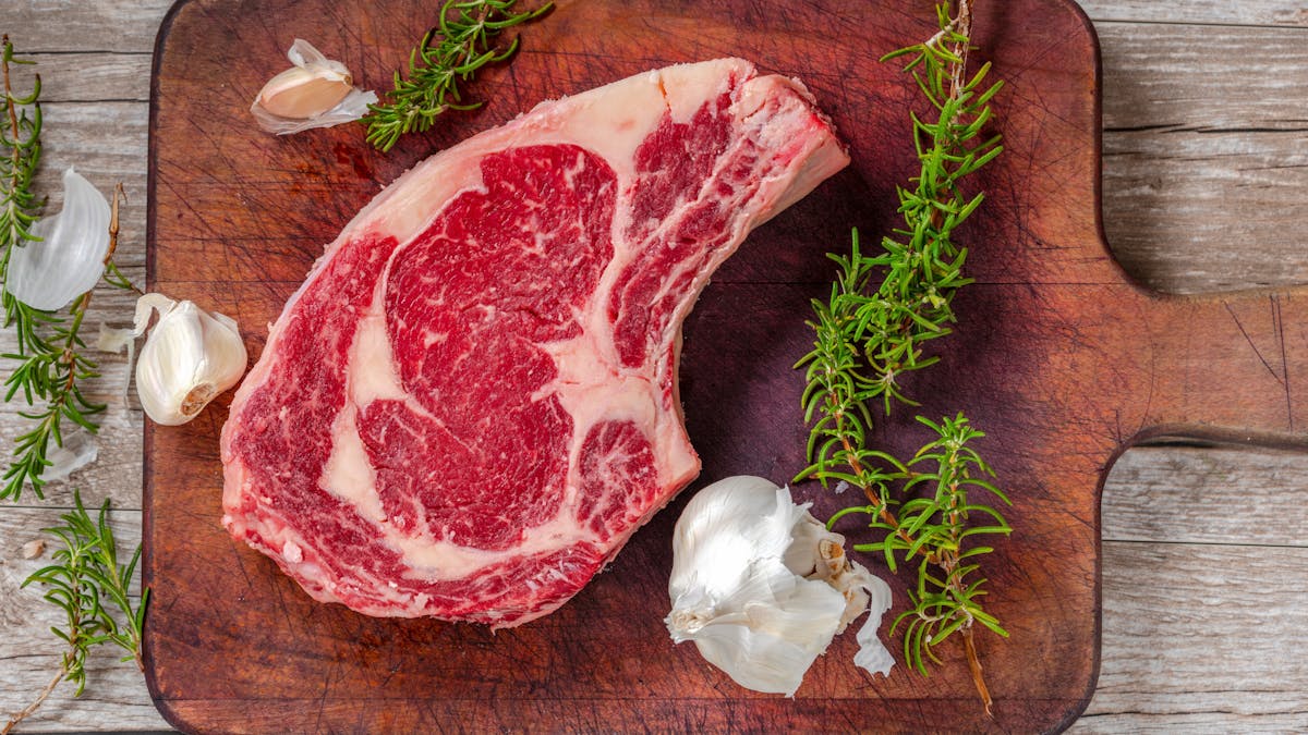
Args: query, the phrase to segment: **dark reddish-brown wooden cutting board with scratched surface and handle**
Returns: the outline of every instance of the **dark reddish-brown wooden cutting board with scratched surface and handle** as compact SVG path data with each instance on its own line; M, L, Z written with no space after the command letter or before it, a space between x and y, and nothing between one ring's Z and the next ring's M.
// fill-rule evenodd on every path
M523 52L485 75L484 109L450 115L388 156L362 128L293 137L246 111L296 37L379 88L437 3L183 1L160 31L150 116L152 289L239 319L254 358L264 326L323 243L428 153L543 98L672 61L740 55L795 75L832 114L854 163L752 234L685 326L681 370L701 480L803 466L791 365L811 344L808 299L849 228L895 225L895 186L914 170L912 84L878 58L929 37L927 0L560 1ZM1127 281L1099 224L1099 76L1093 31L1071 0L978 3L978 58L1007 152L974 186L990 199L960 233L977 284L957 301L943 361L906 388L922 413L967 411L1015 506L986 558L990 609L1011 640L978 636L995 719L957 651L922 679L852 663L846 634L794 698L732 684L663 616L668 539L683 494L562 609L522 628L378 620L311 602L220 527L217 437L225 399L198 421L145 432L145 582L150 692L167 719L203 731L1056 730L1086 706L1099 668L1099 492L1113 459L1160 433L1304 445L1295 400L1308 297L1168 298ZM901 409L879 441L922 433ZM811 485L820 517L838 498ZM842 528L857 540L857 527ZM867 561L878 573L886 568ZM1142 579L1141 583L1148 583ZM905 599L895 582L896 612ZM897 643L895 643L897 646ZM897 647L895 649L897 650Z

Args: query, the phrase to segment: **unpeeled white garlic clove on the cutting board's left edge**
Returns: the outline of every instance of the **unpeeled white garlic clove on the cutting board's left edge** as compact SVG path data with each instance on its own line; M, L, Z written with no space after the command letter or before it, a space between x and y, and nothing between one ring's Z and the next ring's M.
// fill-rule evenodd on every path
M136 395L156 424L177 426L237 385L246 369L245 341L232 318L158 293L136 302L137 336L156 311L158 323L136 358Z

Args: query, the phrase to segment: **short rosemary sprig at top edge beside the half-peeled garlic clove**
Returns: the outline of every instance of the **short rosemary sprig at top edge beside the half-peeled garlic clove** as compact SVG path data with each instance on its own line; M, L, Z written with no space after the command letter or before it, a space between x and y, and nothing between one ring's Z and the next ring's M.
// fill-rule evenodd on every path
M538 18L553 3L514 14L517 0L446 0L441 20L409 52L408 78L395 72L395 89L385 105L369 105L368 141L386 152L400 136L432 128L447 110L473 110L481 102L463 102L459 90L487 64L504 61L518 50L518 38L505 48L494 38L505 29Z

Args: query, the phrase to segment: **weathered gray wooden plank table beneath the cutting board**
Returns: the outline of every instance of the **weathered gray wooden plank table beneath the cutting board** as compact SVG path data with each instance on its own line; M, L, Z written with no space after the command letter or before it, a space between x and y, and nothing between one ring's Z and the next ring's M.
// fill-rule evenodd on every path
M925 1L925 0L923 0ZM127 190L119 263L144 280L150 52L167 1L10 0L0 33L44 82L43 191L75 165ZM1127 271L1196 293L1308 282L1308 9L1288 0L1084 0L1103 47L1104 224ZM196 50L203 52L203 50ZM123 326L127 298L97 293L92 322ZM1300 324L1287 328L1303 330ZM0 347L7 347L0 343ZM1273 357L1275 360L1275 357ZM123 400L122 358L103 360L98 462L73 481L114 501L124 543L140 538L141 412ZM1269 369L1281 369L1279 365ZM1287 379L1294 400L1294 374ZM1223 390L1213 386L1214 391ZM0 408L0 438L22 426ZM1308 730L1308 455L1160 441L1127 451L1103 498L1103 662L1078 731ZM0 507L0 710L48 681L55 609L18 590L24 560L71 504ZM141 676L109 651L26 731L166 728Z

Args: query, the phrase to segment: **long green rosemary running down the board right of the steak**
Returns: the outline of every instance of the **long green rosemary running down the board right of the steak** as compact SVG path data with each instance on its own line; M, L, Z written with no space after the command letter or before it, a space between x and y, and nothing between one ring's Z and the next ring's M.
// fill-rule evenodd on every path
M797 480L818 479L858 488L867 505L837 513L866 514L882 532L875 543L855 544L879 552L891 570L917 562L917 585L909 592L910 609L892 632L904 626L904 653L909 664L927 674L926 662L939 662L935 649L957 634L964 645L973 681L990 711L973 638L973 624L1007 636L981 598L978 557L993 551L973 545L977 536L1011 532L1003 517L969 497L981 490L1008 504L985 477L993 475L968 442L982 434L961 413L934 422L918 417L935 438L910 460L901 462L867 443L874 417L870 405L913 404L901 379L938 361L926 344L948 335L955 323L954 296L969 279L963 275L967 248L952 233L981 204L982 195L967 196L961 179L985 166L1002 150L999 137L981 139L990 120L990 99L1001 84L984 86L990 71L984 64L967 77L972 8L960 0L937 7L939 33L930 41L886 56L908 56L905 71L934 107L930 118L912 115L913 140L921 173L912 188L899 188L904 228L882 239L883 252L865 255L858 231L848 256L832 255L840 276L828 301L814 301L816 340L797 366L806 368L804 421L810 424L808 460Z

